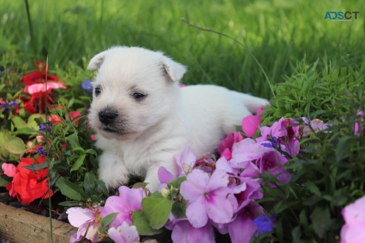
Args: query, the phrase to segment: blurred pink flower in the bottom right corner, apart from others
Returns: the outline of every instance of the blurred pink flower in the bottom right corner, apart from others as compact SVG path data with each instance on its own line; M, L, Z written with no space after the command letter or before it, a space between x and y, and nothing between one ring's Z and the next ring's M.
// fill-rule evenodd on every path
M365 242L365 196L342 209L341 243Z

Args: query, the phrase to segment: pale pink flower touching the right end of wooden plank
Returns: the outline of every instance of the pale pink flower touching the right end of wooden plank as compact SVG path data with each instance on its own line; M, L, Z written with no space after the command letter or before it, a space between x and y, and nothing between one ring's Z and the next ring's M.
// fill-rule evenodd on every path
M98 232L101 230L101 213L103 207L95 208L82 208L82 207L71 207L67 209L66 213L68 221L73 227L79 228L71 239L70 243L76 243L85 238L92 242L99 242ZM86 233L87 231L87 233Z

